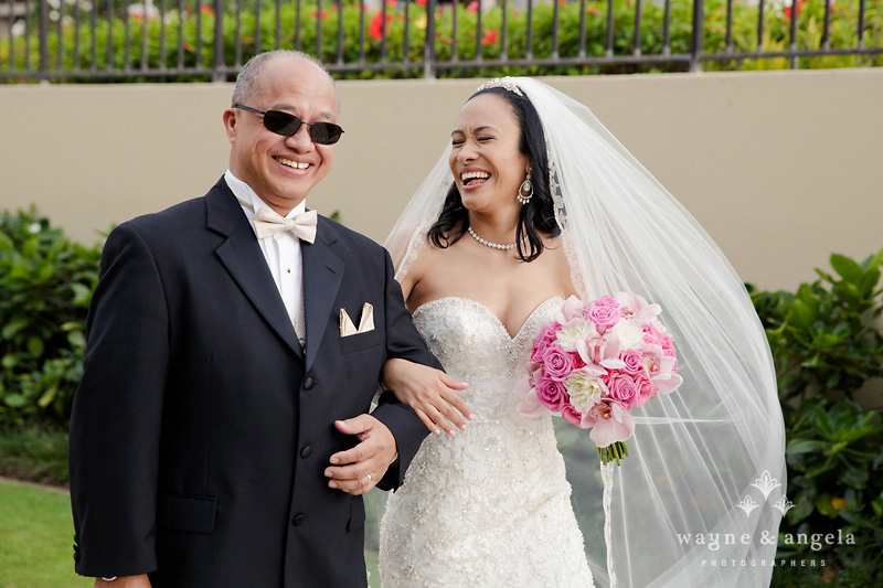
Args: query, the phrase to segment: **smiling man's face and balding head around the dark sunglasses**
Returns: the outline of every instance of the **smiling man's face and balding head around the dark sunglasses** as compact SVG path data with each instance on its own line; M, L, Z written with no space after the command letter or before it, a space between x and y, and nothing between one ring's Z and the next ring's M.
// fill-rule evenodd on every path
M276 57L264 64L257 88L243 105L290 113L305 122L338 121L331 79L301 58ZM308 125L283 137L264 127L262 115L236 108L224 111L224 125L231 143L230 171L281 215L331 171L334 146L312 142Z

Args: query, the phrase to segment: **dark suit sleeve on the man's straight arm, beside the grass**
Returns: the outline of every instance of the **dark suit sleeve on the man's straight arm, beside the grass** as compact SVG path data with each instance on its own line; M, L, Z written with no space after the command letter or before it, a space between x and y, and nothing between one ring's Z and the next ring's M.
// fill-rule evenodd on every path
M104 247L87 338L70 435L76 571L146 574L157 568L169 317L150 249L128 225L115 229Z

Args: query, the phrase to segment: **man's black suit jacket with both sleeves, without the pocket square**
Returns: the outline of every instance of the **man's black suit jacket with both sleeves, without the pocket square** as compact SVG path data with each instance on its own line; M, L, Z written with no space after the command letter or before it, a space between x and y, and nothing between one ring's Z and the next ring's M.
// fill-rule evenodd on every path
M76 570L153 586L365 586L364 506L331 490L383 363L438 366L389 254L320 217L301 244L306 355L254 231L222 179L202 199L116 228L102 256L71 419ZM340 336L345 309L375 329ZM426 428L392 397L401 484Z

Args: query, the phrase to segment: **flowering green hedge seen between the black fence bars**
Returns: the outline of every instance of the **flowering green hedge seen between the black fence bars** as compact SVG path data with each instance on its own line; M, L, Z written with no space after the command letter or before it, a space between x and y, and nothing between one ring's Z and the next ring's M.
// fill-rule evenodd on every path
M358 63L360 58L360 11L358 4L347 3L342 11L337 4L323 3L321 13L317 12L316 4L301 7L301 36L300 47L309 53L316 51L317 18L321 24L320 57L329 64L337 62L337 29L338 21L343 15L343 62ZM586 3L586 54L588 56L603 56L607 43L607 2L589 1ZM550 3L538 3L533 10L533 55L546 58L552 55L552 28L554 23L554 7ZM858 44L858 0L840 0L832 4L830 45L832 49L850 49ZM423 75L424 45L426 36L426 8L421 4L408 7L408 58L414 64L406 70L372 71L362 70L339 74L343 78L383 78L383 77L419 77ZM286 3L280 11L280 39L281 46L295 46L296 8ZM662 30L664 11L661 6L646 2L641 7L641 52L645 55L658 55L662 52ZM181 20L183 19L183 20ZM236 61L236 14L223 14L224 30L224 63L233 64ZM562 2L558 6L558 52L563 57L576 56L579 49L579 19L581 7L578 2ZM178 43L183 36L184 51L181 65L184 67L211 67L214 61L214 13L208 7L199 12L201 23L201 63L196 63L198 18L196 13L179 13L170 11L166 15L164 25L164 62L161 62L159 45L159 20L146 22L148 43L147 63L150 70L160 67L173 68L179 65ZM391 63L400 62L404 57L404 29L405 12L403 7L391 6L387 8L387 30L385 46L382 47L380 25L382 14L368 12L364 15L365 62L380 63L382 50ZM825 2L823 0L808 0L800 4L798 15L797 47L800 50L819 49L823 32ZM671 2L671 53L688 53L691 46L692 2L689 0L673 0ZM435 51L438 58L448 62L453 55L453 11L449 4L437 9ZM457 56L459 60L471 60L481 46L482 57L494 60L501 52L502 11L493 8L482 14L481 39L477 39L477 11L461 7L457 11ZM119 18L111 21L106 19L97 22L93 39L87 18L81 20L78 29L78 53L74 54L75 26L72 23L63 28L61 34L62 54L58 61L60 36L57 28L53 25L49 33L49 68L72 72L75 68L88 71L91 67L92 45L97 43L98 70L105 70L108 58L113 61L116 70L130 67L138 70L142 64L142 26L141 19L129 19L128 26ZM526 53L525 11L510 10L507 19L507 54L510 58L523 58ZM127 31L128 29L128 31ZM256 21L253 10L241 14L241 30L243 60L247 60L255 52ZM616 55L631 55L635 39L635 4L632 1L618 1L614 7L614 53ZM181 34L181 32L183 34ZM259 18L260 50L276 47L276 10L275 7L265 7ZM130 54L126 61L126 36L130 40ZM113 54L108 55L108 36L113 39ZM13 70L35 70L39 67L39 39L32 34L29 46L29 62L25 64L24 38L15 39L12 49ZM869 0L865 3L863 44L868 47L883 46L883 1ZM763 47L765 51L784 51L790 46L790 12L781 9L767 8L764 14ZM733 4L733 47L735 52L749 52L757 49L757 8L745 3ZM705 3L704 51L705 53L723 53L726 50L726 2L709 0ZM763 60L733 60L726 62L708 62L706 70L779 70L789 67L789 60L785 57ZM10 47L8 43L0 43L0 70L8 70L10 64ZM801 68L812 67L854 67L883 65L883 55L831 55L818 57L801 57ZM438 72L439 77L472 77L489 75L539 75L539 74L588 74L588 73L627 73L627 72L661 72L683 71L684 63L669 64L636 64L636 65L594 65L594 66L506 66L481 68L445 68ZM157 77L113 78L124 82L156 81ZM162 79L162 78L159 78ZM208 79L205 76L169 77L174 81ZM17 82L11 78L9 82ZM65 81L61 78L60 81ZM79 79L81 82L102 82L103 78Z

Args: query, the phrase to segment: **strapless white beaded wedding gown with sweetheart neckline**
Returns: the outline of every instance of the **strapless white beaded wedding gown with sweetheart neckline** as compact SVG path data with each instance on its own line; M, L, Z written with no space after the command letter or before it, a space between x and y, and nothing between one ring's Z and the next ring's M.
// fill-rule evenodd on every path
M414 312L429 351L469 383L462 398L475 420L453 438L430 435L390 493L380 527L384 588L593 586L552 417L520 415L513 392L562 302L540 304L514 339L466 298Z

